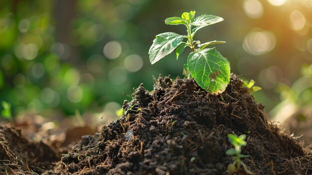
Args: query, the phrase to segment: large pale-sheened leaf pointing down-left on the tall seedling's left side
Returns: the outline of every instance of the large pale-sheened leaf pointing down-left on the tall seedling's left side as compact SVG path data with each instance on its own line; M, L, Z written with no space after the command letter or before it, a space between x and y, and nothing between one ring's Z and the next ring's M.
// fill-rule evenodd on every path
M149 50L150 62L152 64L159 61L164 56L171 53L183 40L183 36L173 33L165 32L156 35L153 44Z

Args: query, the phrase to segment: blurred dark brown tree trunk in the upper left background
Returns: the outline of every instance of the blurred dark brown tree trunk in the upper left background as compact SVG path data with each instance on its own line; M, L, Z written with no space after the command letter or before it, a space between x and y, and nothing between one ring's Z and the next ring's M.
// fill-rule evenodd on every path
M77 16L77 0L57 0L54 8L54 19L56 21L56 42L64 44L64 54L61 57L70 63L79 62L78 48L72 45L71 21Z

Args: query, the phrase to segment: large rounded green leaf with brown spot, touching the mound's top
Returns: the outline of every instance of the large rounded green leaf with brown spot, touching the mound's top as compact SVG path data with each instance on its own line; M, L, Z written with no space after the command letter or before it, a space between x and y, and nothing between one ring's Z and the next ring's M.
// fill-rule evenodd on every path
M230 63L215 48L191 52L187 66L197 84L212 94L222 93L230 82Z

